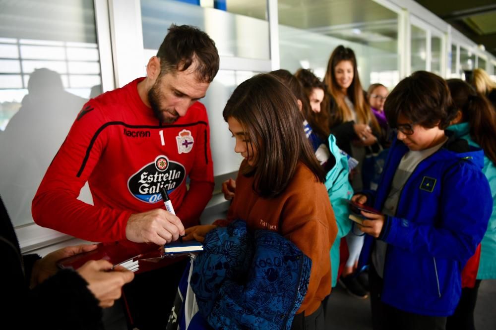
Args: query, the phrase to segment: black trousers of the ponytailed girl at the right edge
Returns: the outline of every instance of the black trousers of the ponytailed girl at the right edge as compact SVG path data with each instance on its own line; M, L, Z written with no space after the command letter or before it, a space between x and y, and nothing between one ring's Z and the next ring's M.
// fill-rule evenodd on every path
M481 280L475 281L474 287L464 287L455 314L448 317L446 330L475 330L474 311Z

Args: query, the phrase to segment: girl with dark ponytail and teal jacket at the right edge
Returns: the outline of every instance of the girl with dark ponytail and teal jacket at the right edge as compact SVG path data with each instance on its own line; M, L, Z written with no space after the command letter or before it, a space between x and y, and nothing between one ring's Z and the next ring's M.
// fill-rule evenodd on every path
M462 295L455 313L448 317L446 329L475 329L474 310L483 279L496 278L496 112L491 103L460 79L447 80L454 108L447 129L484 150L484 167L493 196L493 213L481 248L469 259L462 273ZM477 275L477 276L476 276Z

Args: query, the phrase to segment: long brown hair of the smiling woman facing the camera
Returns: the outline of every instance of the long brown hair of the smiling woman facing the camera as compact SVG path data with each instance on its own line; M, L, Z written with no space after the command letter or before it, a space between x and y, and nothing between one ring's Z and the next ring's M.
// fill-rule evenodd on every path
M350 101L355 107L355 112L357 113L357 123L361 124L372 124L372 127L380 132L379 124L372 114L369 104L365 101L364 90L362 84L360 83L360 77L358 76L357 69L357 58L355 53L350 48L345 48L343 45L339 45L334 49L327 62L327 70L324 76L324 83L327 86L327 92L335 100L337 109L329 109L330 113L330 124L336 125L343 121L348 121L351 118L351 110L346 105L343 98L343 93L341 87L336 81L336 75L334 73L334 68L341 61L350 61L353 65L353 81L346 90L346 94ZM331 101L327 100L326 104L330 105ZM330 108L329 106L327 108Z

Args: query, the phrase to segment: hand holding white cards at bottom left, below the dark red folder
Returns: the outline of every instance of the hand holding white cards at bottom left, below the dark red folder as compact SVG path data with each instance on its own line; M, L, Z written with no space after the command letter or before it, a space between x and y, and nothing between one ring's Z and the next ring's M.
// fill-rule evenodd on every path
M112 264L106 260L88 261L77 270L103 308L114 305L114 301L121 298L122 286L134 278L134 273L122 266L111 270Z

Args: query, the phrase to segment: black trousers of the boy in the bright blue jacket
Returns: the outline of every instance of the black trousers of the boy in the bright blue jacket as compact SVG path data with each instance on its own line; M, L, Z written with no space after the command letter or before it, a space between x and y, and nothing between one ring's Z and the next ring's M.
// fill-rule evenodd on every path
M369 271L373 330L445 330L446 317L426 316L399 310L381 301L382 278L371 264Z

